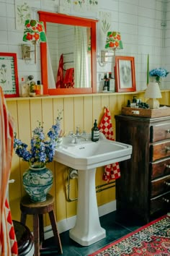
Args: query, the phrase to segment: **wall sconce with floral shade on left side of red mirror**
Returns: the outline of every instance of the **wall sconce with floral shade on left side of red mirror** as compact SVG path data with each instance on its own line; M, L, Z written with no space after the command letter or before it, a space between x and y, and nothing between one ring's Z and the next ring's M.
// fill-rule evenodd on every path
M37 62L36 45L37 42L46 42L44 22L38 20L26 20L24 24L24 36L23 41L32 42L35 46L35 63ZM28 45L22 45L22 58L30 59L30 48Z

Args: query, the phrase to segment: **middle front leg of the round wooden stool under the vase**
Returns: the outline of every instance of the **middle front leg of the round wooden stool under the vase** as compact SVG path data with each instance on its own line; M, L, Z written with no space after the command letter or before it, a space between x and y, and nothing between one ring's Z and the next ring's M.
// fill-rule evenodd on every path
M40 236L39 236L38 214L33 215L33 234L34 234L34 244L35 244L35 256L40 256Z

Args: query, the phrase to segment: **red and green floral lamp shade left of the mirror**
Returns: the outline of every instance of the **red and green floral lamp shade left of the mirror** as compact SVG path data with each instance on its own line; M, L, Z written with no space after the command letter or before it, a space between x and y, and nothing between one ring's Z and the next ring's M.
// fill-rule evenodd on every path
M46 42L44 23L38 20L26 20L23 41Z

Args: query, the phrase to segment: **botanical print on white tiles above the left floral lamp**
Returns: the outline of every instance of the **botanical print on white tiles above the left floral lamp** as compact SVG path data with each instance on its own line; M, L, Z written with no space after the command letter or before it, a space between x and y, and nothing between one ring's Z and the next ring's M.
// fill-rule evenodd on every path
M31 17L31 9L27 2L15 0L16 29L23 30L25 20Z

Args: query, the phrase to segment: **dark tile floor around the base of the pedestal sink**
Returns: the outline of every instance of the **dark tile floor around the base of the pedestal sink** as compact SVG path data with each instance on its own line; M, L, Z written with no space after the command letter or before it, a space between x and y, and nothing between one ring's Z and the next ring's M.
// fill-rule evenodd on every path
M116 211L109 213L105 216L100 217L100 223L102 228L106 230L106 238L91 244L88 247L83 247L77 244L72 239L69 238L69 231L60 234L61 244L63 247L63 256L86 256L92 252L97 251L97 249L104 247L105 245L114 242L122 236L134 231L135 229L143 226L144 223L140 220L134 218L134 216L126 216L126 218L120 218L117 216ZM45 247L53 248L53 237L45 241ZM41 254L42 255L42 254ZM43 255L58 255L57 252L47 252Z

